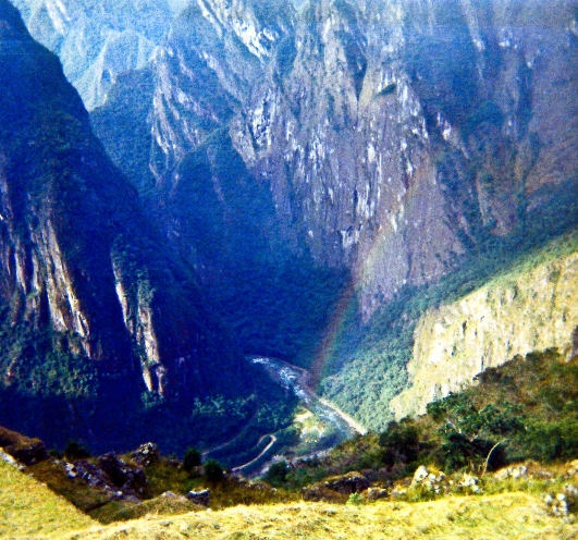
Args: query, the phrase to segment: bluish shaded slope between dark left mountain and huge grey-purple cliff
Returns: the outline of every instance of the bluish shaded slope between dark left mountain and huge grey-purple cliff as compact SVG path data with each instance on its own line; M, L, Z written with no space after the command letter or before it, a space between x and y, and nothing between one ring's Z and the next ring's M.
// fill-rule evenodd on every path
M244 351L308 363L346 272L279 226L227 135L294 17L283 2L193 2L150 71L121 77L91 120Z

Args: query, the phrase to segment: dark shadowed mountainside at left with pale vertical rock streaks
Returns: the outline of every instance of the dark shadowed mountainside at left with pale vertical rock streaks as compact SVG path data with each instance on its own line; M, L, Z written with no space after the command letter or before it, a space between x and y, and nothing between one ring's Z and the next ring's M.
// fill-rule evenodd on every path
M7 0L0 85L2 420L49 442L76 433L123 444L153 428L142 424L142 393L149 409L165 401L185 417L195 396L248 395L244 360L190 271ZM170 410L155 417L158 437L175 421Z

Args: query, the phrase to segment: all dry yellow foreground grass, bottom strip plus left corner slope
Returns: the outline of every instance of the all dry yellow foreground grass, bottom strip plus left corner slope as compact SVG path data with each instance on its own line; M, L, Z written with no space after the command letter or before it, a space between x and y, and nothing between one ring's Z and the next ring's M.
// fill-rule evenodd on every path
M305 502L235 506L97 526L41 483L0 463L0 538L578 540L578 526L549 516L540 500L528 493L359 507Z

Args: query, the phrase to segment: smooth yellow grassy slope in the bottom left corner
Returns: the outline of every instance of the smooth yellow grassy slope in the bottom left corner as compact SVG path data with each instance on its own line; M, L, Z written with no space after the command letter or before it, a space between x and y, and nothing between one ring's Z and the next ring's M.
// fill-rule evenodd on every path
M0 461L0 538L62 538L93 524L46 486Z

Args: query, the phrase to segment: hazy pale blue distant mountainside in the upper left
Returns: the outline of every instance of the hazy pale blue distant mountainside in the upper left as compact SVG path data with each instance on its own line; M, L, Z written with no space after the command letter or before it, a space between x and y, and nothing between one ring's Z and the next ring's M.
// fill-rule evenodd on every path
M85 107L102 105L119 74L144 68L174 11L161 1L14 0L35 39L58 53Z

